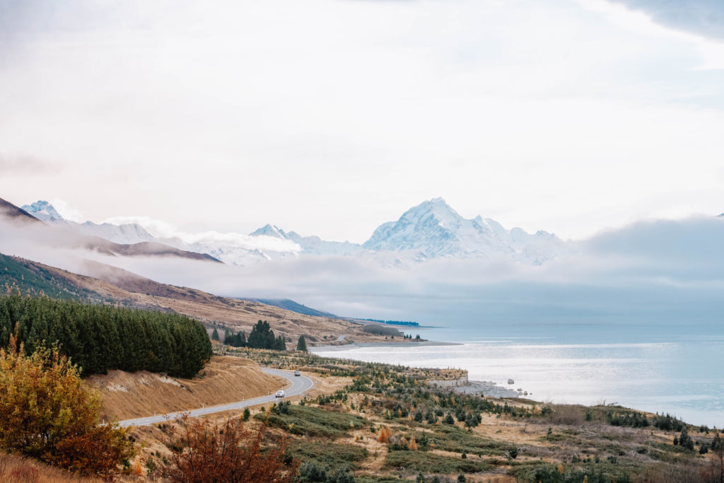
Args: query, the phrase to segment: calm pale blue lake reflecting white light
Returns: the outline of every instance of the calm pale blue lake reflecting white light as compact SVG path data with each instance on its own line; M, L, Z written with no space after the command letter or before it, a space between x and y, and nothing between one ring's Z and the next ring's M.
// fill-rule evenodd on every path
M607 327L598 335L592 327L578 334L571 327L484 331L495 333L494 337L482 337L473 328L406 332L461 345L350 345L313 352L358 361L468 369L473 380L508 387L508 379L514 379L513 389L520 387L535 400L619 403L675 414L691 424L724 427L724 335L712 333L711 327L655 331Z

